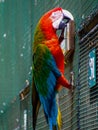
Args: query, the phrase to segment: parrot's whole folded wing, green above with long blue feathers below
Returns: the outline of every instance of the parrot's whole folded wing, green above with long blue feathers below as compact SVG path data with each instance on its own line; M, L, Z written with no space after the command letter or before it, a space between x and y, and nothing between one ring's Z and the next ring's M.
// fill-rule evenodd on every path
M58 107L55 90L59 77L61 77L61 72L50 50L46 45L38 44L33 54L33 82L50 129L52 125L57 125Z

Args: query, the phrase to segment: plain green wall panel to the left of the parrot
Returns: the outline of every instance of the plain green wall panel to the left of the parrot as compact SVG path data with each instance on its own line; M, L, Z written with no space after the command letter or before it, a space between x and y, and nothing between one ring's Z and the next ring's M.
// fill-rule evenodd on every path
M31 4L0 1L0 110L16 98L31 71Z

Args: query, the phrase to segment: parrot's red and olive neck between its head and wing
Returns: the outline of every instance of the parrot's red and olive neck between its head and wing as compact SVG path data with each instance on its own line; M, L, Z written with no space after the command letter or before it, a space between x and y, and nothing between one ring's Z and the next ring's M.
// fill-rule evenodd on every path
M34 46L38 44L46 44L48 47L59 44L56 30L51 26L41 28L40 25L38 25L35 31Z

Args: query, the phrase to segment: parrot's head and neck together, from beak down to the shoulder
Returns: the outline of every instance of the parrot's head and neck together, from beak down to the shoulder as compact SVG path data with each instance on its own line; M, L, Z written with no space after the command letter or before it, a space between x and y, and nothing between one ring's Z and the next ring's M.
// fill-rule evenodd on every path
M72 14L60 7L54 8L46 12L39 20L34 34L34 45L43 43L50 39L57 39L57 30L63 31L67 23L73 20ZM59 43L61 41L59 40Z

